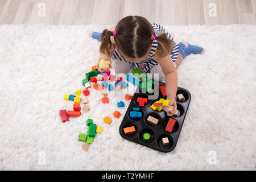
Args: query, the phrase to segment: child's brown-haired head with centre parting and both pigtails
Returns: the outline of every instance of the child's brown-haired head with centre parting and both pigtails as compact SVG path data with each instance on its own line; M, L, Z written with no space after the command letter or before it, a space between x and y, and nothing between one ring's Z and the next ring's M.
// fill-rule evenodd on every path
M153 42L151 35L155 35L152 24L146 18L126 16L117 23L115 32L117 32L117 35L114 36L115 44L126 60L142 61L146 59ZM101 34L100 52L104 55L111 55L111 36L113 36L113 32L106 29ZM155 40L158 41L156 55L159 57L168 55L175 44L173 40L167 38L166 34L156 36Z

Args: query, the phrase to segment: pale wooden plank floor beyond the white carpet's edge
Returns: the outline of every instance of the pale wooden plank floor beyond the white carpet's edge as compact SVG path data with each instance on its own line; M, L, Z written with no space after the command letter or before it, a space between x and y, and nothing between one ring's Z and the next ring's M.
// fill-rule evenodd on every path
M127 15L161 24L256 24L256 0L0 0L0 24L115 24Z

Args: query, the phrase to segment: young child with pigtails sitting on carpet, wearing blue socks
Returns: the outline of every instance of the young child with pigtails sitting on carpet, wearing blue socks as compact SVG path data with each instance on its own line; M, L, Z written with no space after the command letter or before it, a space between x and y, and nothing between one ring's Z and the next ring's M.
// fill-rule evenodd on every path
M142 16L126 16L116 26L102 33L93 32L94 39L101 40L100 53L114 57L117 73L127 73L131 67L143 68L145 73L159 74L159 81L166 83L169 106L163 109L167 115L175 114L177 72L185 56L203 54L204 49L186 42L175 44L172 36L160 24L148 22ZM174 109L170 109L174 106Z

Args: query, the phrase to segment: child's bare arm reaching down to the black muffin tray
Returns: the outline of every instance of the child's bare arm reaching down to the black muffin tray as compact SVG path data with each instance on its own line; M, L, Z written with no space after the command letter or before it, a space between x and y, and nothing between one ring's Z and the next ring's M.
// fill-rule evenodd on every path
M163 58L155 55L154 58L158 61L158 64L162 68L164 76L166 77L166 95L167 99L170 100L170 104L168 107L164 107L164 110L166 110L167 115L173 115L177 109L175 100L177 92L177 71L170 55ZM174 109L171 110L170 106L174 106Z

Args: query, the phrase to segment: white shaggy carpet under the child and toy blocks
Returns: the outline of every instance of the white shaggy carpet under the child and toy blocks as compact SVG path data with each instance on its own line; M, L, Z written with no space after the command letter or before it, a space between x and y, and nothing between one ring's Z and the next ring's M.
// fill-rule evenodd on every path
M174 151L162 153L122 139L118 127L129 101L90 89L93 108L69 122L64 94L81 89L100 43L90 31L109 26L0 26L0 169L255 170L256 26L164 26L176 42L205 48L177 69L192 100ZM131 86L131 85L130 85ZM118 109L117 102L126 107ZM107 125L103 117L119 110ZM103 127L87 152L77 139L92 118ZM113 118L113 117L112 117ZM214 163L216 159L216 163Z

